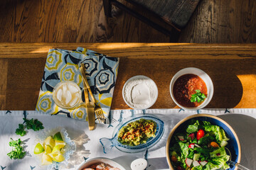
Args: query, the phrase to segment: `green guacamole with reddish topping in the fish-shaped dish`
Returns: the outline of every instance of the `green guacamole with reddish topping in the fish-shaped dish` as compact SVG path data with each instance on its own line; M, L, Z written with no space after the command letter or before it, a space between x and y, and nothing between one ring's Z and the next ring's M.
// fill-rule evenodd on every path
M117 140L122 145L137 146L146 143L150 137L156 136L156 123L141 118L128 123L118 132Z

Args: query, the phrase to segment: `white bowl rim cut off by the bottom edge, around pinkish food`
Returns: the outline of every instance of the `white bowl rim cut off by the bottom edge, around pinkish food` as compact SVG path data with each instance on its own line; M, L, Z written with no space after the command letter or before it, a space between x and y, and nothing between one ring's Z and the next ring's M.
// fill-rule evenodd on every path
M85 169L93 164L97 164L99 162L103 162L105 164L109 164L110 166L113 166L115 168L118 168L120 170L125 170L124 167L120 164L118 164L117 162L114 162L112 159L108 159L108 158L104 158L104 157L98 157L98 158L93 158L90 159L88 161L86 161L85 163L81 164L77 170L82 170Z

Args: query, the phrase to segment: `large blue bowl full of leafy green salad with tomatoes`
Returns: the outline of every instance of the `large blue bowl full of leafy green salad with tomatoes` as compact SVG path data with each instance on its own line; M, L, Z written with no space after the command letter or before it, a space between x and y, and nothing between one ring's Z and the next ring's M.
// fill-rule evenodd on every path
M241 147L233 128L208 114L191 115L171 130L166 143L170 169L238 169Z

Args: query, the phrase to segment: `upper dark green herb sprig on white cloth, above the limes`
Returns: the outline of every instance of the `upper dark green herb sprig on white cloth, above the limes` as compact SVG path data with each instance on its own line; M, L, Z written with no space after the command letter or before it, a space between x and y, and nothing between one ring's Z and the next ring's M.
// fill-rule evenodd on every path
M25 125L18 124L18 128L16 129L16 135L24 136L26 135L26 128L28 130L32 129L34 131L42 130L43 129L43 123L41 123L39 120L33 118L31 120L28 120L26 118L23 118Z

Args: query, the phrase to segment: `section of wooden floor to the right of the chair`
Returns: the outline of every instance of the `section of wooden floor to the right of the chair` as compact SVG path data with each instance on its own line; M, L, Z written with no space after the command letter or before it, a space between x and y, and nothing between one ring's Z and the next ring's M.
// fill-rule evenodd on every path
M256 1L202 0L180 42L255 42Z

